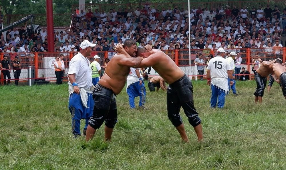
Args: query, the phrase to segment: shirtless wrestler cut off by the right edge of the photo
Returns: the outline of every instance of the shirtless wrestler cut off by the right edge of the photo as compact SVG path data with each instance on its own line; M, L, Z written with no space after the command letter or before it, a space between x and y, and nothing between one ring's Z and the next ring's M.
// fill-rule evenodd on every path
M282 93L286 99L286 67L284 64L275 63L273 67L273 79L281 85Z

